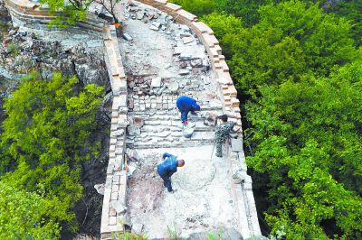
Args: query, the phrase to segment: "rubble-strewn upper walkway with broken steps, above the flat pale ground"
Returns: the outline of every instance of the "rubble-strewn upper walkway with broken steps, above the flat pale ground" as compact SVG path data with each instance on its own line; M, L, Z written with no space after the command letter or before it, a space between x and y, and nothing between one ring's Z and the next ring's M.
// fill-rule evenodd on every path
M213 143L214 124L206 118L208 112L221 114L222 103L204 45L186 25L155 8L132 2L126 9L119 49L128 81L127 146ZM176 108L181 95L194 97L202 109L200 115L189 115L195 131L190 139L183 137ZM142 125L134 124L134 117L142 119Z

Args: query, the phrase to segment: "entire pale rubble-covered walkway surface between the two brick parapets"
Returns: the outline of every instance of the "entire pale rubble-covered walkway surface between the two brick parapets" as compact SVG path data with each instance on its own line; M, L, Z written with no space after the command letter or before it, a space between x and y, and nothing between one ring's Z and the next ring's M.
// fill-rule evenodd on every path
M119 38L119 49L129 86L127 152L138 158L129 162L129 224L150 239L238 229L229 166L212 156L214 127L204 125L206 113L222 114L205 47L169 15L146 5L126 6L123 32L132 40ZM191 139L182 136L176 109L181 95L195 97L202 108L201 115L190 116ZM154 170L163 152L186 161L172 178L174 194Z

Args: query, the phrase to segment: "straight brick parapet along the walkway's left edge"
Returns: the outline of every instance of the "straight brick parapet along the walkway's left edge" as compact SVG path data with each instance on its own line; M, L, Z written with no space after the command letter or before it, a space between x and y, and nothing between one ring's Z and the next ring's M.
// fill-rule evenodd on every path
M127 81L119 53L116 29L110 26L104 32L104 57L113 91L110 126L110 161L104 189L101 239L112 238L124 231L126 213L127 172L124 171L127 119Z

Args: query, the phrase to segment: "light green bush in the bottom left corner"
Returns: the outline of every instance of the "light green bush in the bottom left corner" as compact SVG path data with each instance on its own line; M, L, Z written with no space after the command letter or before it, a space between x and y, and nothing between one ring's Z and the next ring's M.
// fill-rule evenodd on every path
M60 227L54 218L45 218L52 211L37 193L15 189L0 181L1 239L58 239Z

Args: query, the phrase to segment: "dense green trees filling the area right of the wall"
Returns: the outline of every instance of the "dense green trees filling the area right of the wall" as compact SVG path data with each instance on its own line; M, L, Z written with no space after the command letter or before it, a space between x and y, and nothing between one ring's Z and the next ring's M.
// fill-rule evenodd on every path
M362 50L350 33L360 44L360 4L327 7L353 22L311 1L254 4L252 16L243 9L249 5L235 3L201 19L248 100L252 127L244 133L254 154L247 162L267 179L271 234L359 239Z

